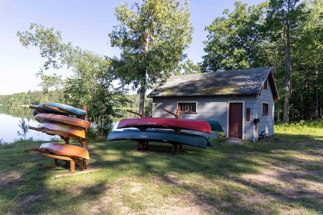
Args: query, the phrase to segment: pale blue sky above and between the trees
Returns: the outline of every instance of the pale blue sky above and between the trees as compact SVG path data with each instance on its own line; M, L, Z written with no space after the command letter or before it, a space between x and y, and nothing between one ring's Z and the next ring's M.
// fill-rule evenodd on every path
M45 62L34 46L25 48L17 31L29 30L30 23L61 31L64 43L87 49L97 54L119 56L120 50L111 47L107 36L113 26L119 25L114 10L117 5L140 0L0 0L0 95L41 90L40 78L35 74ZM205 55L203 42L208 26L223 11L234 10L234 0L190 0L190 21L194 28L193 41L184 52L194 63ZM241 0L248 6L264 0ZM55 71L66 76L65 70Z

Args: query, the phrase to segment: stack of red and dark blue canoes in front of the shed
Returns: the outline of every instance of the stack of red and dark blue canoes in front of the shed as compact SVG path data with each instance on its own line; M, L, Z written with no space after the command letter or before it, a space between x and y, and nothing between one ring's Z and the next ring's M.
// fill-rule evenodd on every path
M219 131L223 131L221 125L216 123ZM213 126L214 127L214 126ZM211 124L202 120L187 120L174 118L132 118L122 119L119 128L136 128L124 129L122 131L112 131L107 136L107 141L112 140L132 140L139 144L146 145L148 141L166 142L173 146L193 146L206 149L211 146L209 139L205 134L211 134ZM174 151L173 151L174 152Z

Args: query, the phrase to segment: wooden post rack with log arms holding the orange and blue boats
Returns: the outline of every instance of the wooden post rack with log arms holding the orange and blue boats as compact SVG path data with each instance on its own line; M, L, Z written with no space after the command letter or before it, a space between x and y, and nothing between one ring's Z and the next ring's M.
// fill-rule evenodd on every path
M58 111L65 112L65 113L68 113L68 114L72 114L69 111L65 111L65 110L59 109L57 107L52 107L52 106L45 105L45 104L43 104L43 107L53 109L53 110L58 110ZM40 108L35 107L35 106L29 106L29 108L45 112L43 109L40 109ZM86 111L86 115L85 115L84 120L87 120L87 105L83 106L83 110ZM79 118L79 116L77 116L77 117ZM72 134L67 134L67 133L60 132L60 131L48 130L48 129L45 129L45 128L37 128L37 127L32 127L32 126L29 126L29 128L33 129L33 130L41 131L43 133L47 133L49 135L59 135L65 141L65 144L70 144L70 138L76 139L82 145L82 147L87 150L87 128L84 128L85 129L85 138L81 138L81 137L74 136ZM56 176L56 178L79 174L79 173L75 173L75 164L77 164L78 166L81 167L82 173L87 173L87 172L92 172L92 171L99 170L99 169L96 169L96 170L91 170L91 171L89 171L89 170L85 171L87 169L87 159L84 159L84 158L72 158L72 157L69 157L69 156L55 155L55 154L53 154L51 152L48 152L46 150L43 150L43 149L29 148L29 150L36 151L36 152L41 152L41 153L43 153L42 154L43 157L53 158L54 159L53 165L41 166L41 167L39 167L39 169L55 168L55 167L58 166L58 160L64 160L66 162L66 164L70 166L70 173L69 174L58 175L58 176Z

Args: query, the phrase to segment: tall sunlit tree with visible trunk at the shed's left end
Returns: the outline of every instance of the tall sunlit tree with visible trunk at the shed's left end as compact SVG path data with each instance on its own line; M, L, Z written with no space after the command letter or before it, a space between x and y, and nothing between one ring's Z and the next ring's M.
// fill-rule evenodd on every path
M192 40L188 1L143 0L128 9L117 6L120 25L109 34L111 44L121 49L115 57L115 71L124 85L133 85L140 93L139 112L144 95L154 84L170 77L185 57L183 51Z

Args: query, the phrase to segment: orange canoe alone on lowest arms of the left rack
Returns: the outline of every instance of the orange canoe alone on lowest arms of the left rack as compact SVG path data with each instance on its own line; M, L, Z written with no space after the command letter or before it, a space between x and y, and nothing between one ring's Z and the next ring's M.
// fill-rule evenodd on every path
M39 149L60 156L90 159L89 152L86 149L70 144L46 142L45 144L40 145Z

